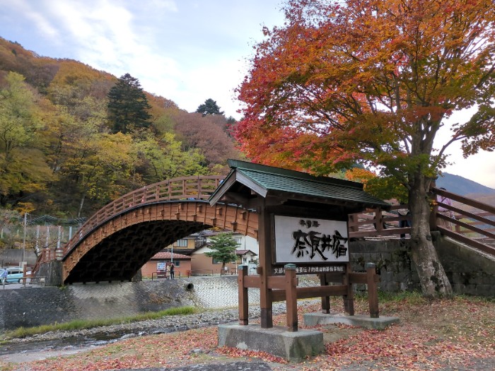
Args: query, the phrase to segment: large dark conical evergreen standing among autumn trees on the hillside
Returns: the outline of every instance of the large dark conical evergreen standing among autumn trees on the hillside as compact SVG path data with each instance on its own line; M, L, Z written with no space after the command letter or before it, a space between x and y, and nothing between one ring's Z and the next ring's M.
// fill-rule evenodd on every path
M130 126L148 127L151 115L146 95L137 78L129 73L121 76L108 92L108 121L114 133L127 134Z

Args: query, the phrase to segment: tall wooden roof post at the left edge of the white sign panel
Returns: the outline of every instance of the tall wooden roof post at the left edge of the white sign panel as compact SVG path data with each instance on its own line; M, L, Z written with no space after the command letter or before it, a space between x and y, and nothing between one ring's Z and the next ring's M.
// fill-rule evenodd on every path
M272 274L272 220L265 210L264 199L259 199L258 242L260 243L260 322L262 329L273 327L272 290L268 288L268 276Z

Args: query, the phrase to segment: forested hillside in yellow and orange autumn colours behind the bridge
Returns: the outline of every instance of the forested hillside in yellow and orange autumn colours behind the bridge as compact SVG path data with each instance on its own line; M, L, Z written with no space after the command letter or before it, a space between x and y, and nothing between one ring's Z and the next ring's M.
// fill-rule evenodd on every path
M226 172L226 159L240 157L228 134L235 120L216 108L188 113L129 73L0 38L0 208L90 216L145 184Z

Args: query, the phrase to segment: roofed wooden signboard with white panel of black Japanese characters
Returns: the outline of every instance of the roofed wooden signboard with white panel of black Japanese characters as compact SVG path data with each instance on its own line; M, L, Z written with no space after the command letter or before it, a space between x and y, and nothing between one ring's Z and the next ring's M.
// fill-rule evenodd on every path
M260 289L261 327L271 328L272 303L285 300L286 327L297 331L298 298L330 296L344 300L354 315L352 284L366 283L371 317L378 317L374 267L354 273L349 264L347 215L370 207L390 206L363 192L362 184L313 177L302 172L229 160L231 172L209 202L238 204L258 216L259 265L256 275L238 267L239 323L248 324L248 288ZM318 274L320 286L298 288L296 274ZM332 283L332 285L330 285Z

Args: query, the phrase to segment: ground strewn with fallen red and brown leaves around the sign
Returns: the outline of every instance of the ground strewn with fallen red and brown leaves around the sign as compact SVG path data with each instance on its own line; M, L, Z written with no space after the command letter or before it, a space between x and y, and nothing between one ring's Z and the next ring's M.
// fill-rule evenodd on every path
M342 311L337 300L333 310ZM318 305L299 310L317 312ZM366 301L356 300L356 313L366 312ZM131 338L86 353L64 358L23 363L23 370L72 371L122 368L177 367L194 363L228 362L253 358L269 363L273 370L438 370L468 367L474 358L495 360L495 303L477 298L450 300L391 300L380 306L380 315L400 318L385 330L348 331L349 336L325 343L325 353L303 363L288 363L269 353L216 348L216 327ZM274 317L283 325L285 316ZM351 326L340 325L342 330ZM320 331L339 331L318 326ZM8 369L6 369L8 370Z

